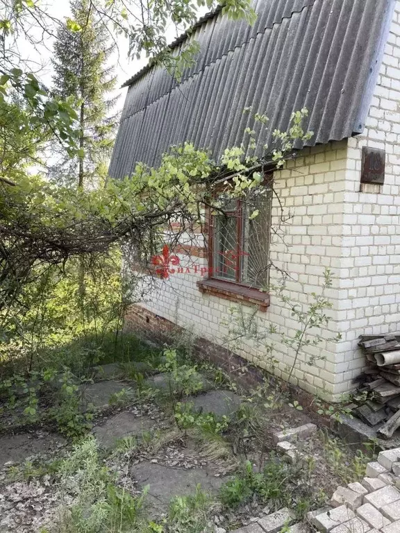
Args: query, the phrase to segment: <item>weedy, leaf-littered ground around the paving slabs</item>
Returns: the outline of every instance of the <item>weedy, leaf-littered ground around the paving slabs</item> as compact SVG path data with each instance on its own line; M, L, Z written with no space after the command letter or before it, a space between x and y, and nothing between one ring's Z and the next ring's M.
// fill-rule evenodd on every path
M113 362L122 371L119 382L124 390L132 387L133 394L117 394L106 409L85 412L81 384L97 379L94 365ZM137 371L135 362L149 365ZM145 374L157 371L169 376L167 389L146 382ZM213 389L241 396L235 414L215 416L185 406L187 396L201 394L200 374ZM308 422L301 406L274 391L267 380L244 391L219 369L196 365L184 350L150 348L131 335L105 335L101 346L76 341L41 353L31 373L15 376L6 366L3 376L3 434L10 434L10 428L40 429L67 437L56 454L3 468L1 493L19 491L20 506L16 511L12 496L6 496L8 507L2 509L0 502L0 514L3 521L16 512L24 517L17 526L11 523L10 532L212 532L216 524L235 529L266 506L269 511L290 507L301 520L338 484L362 477L369 460L319 430L299 443L302 458L287 462L276 452L272 434ZM92 425L126 412L156 427L140 438L127 436L113 448L100 448L90 435ZM191 494L177 494L167 509L154 511L151 487L135 477L135 465L143 462L182 471L206 468L224 477L224 483L214 493L198 487ZM32 509L38 507L33 523ZM28 529L24 520L31 521Z

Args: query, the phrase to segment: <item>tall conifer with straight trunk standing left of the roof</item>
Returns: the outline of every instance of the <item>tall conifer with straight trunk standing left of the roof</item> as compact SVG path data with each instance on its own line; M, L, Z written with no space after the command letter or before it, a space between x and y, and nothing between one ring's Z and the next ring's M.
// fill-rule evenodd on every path
M110 97L117 77L108 60L115 51L110 33L92 9L90 0L71 0L72 17L81 26L71 31L60 26L54 46L54 92L76 99L80 155L55 166L58 180L98 185L106 178L117 121L110 117L116 98ZM76 180L77 176L77 180Z

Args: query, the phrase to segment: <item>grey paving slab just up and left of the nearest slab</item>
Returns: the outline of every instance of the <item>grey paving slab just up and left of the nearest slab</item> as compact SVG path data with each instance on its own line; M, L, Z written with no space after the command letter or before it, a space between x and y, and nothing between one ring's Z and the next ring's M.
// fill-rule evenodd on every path
M143 432L151 430L153 425L151 418L124 411L111 416L103 425L95 426L92 432L101 448L112 448L116 441L123 437L142 437Z

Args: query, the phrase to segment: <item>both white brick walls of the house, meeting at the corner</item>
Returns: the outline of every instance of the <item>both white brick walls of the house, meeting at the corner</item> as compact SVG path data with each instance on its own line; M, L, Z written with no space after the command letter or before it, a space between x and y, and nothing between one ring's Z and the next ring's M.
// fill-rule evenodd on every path
M285 214L292 219L283 228L285 239L274 239L271 254L277 267L290 273L288 296L301 305L321 290L326 267L335 276L326 295L333 308L328 329L317 348L301 353L292 382L326 398L339 399L351 389L351 380L365 366L357 348L361 334L400 330L400 0L397 0L390 37L363 135L326 146L306 149L295 161L275 173L276 190ZM386 151L385 185L364 185L360 192L361 149ZM273 225L278 220L274 198ZM181 257L182 261L188 258ZM200 267L206 260L192 258ZM272 281L277 279L272 272ZM143 303L152 312L190 328L210 341L234 348L250 362L271 369L269 346L277 359L274 373L283 378L294 362L293 350L281 335L294 335L297 323L290 308L272 296L267 312L258 312L260 328L270 323L279 334L263 342L242 340L228 344L228 322L234 304L203 295L199 275L176 274L156 280ZM243 312L251 312L244 306ZM342 340L331 341L338 332ZM312 355L322 357L308 364Z

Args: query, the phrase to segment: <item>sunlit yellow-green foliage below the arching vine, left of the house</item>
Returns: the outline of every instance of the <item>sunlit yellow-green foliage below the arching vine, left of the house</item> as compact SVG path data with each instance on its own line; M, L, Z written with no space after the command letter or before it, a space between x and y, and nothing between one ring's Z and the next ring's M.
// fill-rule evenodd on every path
M77 339L94 348L109 332L117 335L125 306L121 260L115 249L83 264L74 258L65 269L37 267L36 279L5 312L9 319L3 328L0 362L15 359L19 366L21 359L22 366L31 369L40 364L45 350L63 348Z

